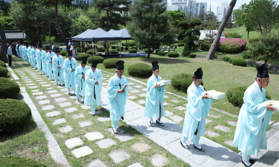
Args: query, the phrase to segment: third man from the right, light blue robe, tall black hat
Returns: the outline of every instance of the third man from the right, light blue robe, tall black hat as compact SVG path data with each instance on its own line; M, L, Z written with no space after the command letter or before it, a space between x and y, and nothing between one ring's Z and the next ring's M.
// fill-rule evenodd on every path
M161 122L160 118L165 116L165 109L163 106L165 88L157 84L158 81L161 81L159 77L159 65L158 61L152 62L152 76L149 77L147 81L147 93L146 93L146 103L145 103L145 113L144 116L150 118L150 125L154 127L153 118L156 119L158 125L164 126L164 123Z

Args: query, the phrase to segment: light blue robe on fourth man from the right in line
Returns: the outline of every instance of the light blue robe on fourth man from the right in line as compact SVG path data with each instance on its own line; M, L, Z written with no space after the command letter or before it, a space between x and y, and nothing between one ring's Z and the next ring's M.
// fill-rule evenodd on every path
M122 76L121 79L117 74L110 77L109 85L107 87L107 97L110 101L110 119L112 121L118 121L121 119L121 116L125 115L125 105L127 101L127 96L129 92L129 85L126 88L125 93L118 93L119 84L121 84L121 88L125 84L128 84L126 77Z

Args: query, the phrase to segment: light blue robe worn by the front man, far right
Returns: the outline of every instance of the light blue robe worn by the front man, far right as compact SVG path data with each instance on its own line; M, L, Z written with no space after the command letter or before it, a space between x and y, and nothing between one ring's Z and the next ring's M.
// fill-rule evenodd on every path
M266 149L266 129L269 125L272 111L266 110L266 92L259 89L257 81L247 88L243 96L243 104L237 120L234 134L234 145L243 154L254 154L257 157L259 149Z

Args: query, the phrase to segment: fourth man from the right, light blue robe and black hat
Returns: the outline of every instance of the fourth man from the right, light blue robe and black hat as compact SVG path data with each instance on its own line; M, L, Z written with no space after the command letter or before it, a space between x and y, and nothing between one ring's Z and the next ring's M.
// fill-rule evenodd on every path
M128 84L124 73L124 62L117 61L116 74L110 77L109 85L107 87L107 97L110 102L110 119L112 120L112 130L114 134L120 131L118 122L120 119L124 119L125 105L127 101L127 95L129 91L129 85L125 90L122 90L125 84Z

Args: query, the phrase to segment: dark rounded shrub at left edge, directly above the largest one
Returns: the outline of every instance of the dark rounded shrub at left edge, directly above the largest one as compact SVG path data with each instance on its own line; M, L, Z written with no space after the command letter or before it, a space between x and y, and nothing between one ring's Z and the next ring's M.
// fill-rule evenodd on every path
M20 93L20 86L10 79L0 77L0 99L15 99Z

